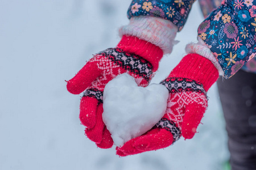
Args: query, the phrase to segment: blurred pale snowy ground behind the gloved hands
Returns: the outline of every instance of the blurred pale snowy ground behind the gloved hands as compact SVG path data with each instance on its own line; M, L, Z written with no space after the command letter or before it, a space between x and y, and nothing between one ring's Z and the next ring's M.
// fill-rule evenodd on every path
M191 140L164 150L119 158L97 148L79 121L81 95L71 79L92 54L114 47L127 24L130 0L0 0L0 169L223 169L228 161L225 124L216 85L209 109ZM152 83L164 79L196 41L203 21L192 7L179 44L164 56Z

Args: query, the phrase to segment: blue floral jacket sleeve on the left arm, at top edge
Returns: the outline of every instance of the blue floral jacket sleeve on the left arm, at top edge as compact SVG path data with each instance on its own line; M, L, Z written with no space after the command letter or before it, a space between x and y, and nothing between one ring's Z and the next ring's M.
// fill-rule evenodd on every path
M129 19L141 15L167 19L181 31L194 2L195 0L133 0L127 15Z

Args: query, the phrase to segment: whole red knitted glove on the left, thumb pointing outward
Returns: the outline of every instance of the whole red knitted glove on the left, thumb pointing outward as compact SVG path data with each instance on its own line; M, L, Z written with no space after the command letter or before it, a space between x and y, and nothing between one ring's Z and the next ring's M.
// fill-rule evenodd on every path
M102 121L102 95L105 85L115 76L128 73L139 86L146 87L158 69L163 51L150 42L133 36L123 36L116 48L96 54L71 80L67 89L84 96L80 103L80 121L85 134L100 148L110 148L113 140Z

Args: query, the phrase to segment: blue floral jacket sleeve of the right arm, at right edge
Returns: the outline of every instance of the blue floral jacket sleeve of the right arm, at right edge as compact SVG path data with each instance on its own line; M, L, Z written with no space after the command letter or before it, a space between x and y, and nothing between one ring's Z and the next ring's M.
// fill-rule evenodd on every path
M256 54L256 1L226 0L199 25L198 35L230 78Z

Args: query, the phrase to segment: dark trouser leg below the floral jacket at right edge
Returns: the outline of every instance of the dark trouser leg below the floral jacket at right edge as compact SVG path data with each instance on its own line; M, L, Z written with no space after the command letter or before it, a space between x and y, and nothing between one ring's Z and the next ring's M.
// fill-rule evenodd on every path
M256 74L238 71L218 79L232 170L256 169Z

